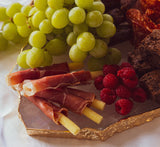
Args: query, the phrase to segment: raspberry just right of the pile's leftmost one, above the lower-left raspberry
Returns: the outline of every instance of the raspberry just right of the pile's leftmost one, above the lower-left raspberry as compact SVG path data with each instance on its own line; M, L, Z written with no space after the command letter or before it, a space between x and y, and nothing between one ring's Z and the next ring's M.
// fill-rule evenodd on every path
M106 88L115 89L118 84L118 78L114 74L107 74L103 79L103 85Z

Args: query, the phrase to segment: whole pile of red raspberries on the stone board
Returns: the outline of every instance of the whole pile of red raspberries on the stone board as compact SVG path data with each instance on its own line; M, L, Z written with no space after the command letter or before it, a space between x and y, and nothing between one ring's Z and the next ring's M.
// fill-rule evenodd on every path
M146 92L139 87L136 72L130 63L124 62L120 66L104 65L103 74L95 79L95 87L101 90L101 100L107 105L115 102L115 109L119 114L129 114L133 101L143 103L147 99Z

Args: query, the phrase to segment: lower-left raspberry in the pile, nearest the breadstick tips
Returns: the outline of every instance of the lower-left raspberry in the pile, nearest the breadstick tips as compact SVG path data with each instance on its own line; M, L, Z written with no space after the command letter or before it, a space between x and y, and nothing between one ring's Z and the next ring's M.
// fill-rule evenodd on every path
M115 91L109 88L103 88L100 92L100 97L107 105L113 104L117 98Z

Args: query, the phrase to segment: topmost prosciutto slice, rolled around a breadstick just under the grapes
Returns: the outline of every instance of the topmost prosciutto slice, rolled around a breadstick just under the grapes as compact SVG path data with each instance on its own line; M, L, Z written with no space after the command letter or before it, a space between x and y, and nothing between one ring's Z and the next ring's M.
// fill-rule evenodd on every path
M69 67L67 63L53 64L48 67L40 67L34 69L27 69L17 71L8 75L8 84L16 85L22 83L24 80L39 79L45 76L58 75L68 73Z

